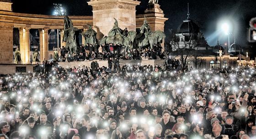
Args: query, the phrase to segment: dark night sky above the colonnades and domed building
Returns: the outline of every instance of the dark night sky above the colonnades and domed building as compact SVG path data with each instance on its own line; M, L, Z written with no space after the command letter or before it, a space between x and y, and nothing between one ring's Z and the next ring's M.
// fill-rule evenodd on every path
M89 1L89 0L87 0ZM149 0L139 0L136 7L137 14L143 14ZM227 36L218 31L218 23L222 20L230 21L233 25L230 44L236 41L243 47L256 46L248 43L246 32L249 21L256 17L256 0L159 0L165 17L165 34L169 36L171 30L176 31L183 20L187 18L187 2L189 2L190 17L201 28L210 46L227 42ZM92 15L92 8L86 0L13 0L13 11L29 14L53 14L53 3L61 3L68 15Z

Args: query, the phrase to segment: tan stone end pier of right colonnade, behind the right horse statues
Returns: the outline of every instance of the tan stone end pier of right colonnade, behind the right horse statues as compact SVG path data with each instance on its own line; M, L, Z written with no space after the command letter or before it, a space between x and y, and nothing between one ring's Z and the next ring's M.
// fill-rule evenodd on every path
M149 4L148 8L145 10L144 15L136 16L136 28L139 29L144 22L144 16L150 26L151 31L164 31L165 29L165 21L168 18L165 18L165 14L163 10L160 9L160 5L158 4ZM161 44L163 47L162 51L164 51L164 42Z

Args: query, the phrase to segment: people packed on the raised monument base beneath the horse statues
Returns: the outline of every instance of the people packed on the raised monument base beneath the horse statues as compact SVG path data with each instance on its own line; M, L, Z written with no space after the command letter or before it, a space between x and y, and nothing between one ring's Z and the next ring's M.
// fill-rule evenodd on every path
M107 45L80 45L76 54L71 56L68 49L62 46L60 51L61 62L65 61L90 61L95 59L108 60L109 58L121 58L123 60L141 60L141 59L165 59L165 53L161 52L161 46L154 45L153 49L142 48L127 50L120 44L107 44ZM54 59L55 60L55 59Z

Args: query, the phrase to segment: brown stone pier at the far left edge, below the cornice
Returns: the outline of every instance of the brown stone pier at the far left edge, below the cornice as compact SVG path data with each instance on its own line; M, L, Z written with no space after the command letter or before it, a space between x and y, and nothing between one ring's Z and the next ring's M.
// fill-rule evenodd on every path
M13 62L13 27L0 24L0 63Z

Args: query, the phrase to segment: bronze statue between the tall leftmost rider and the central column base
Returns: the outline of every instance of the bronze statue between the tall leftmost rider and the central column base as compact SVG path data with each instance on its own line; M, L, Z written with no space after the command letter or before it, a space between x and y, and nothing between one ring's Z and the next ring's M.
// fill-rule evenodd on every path
M91 25L89 25L89 29L87 31L83 32L81 35L85 36L85 44L88 43L88 44L92 44L94 46L94 45L98 44L96 34L97 34L97 32L91 28Z

